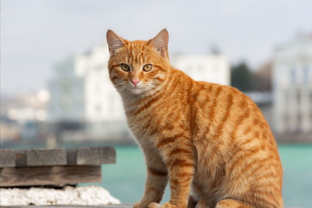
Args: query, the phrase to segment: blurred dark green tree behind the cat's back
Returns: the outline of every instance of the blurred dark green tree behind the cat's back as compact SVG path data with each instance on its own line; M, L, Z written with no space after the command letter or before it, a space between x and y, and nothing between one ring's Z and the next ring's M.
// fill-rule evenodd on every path
M252 89L252 73L246 63L241 62L232 66L231 83L232 87L236 87L241 91L250 91Z

